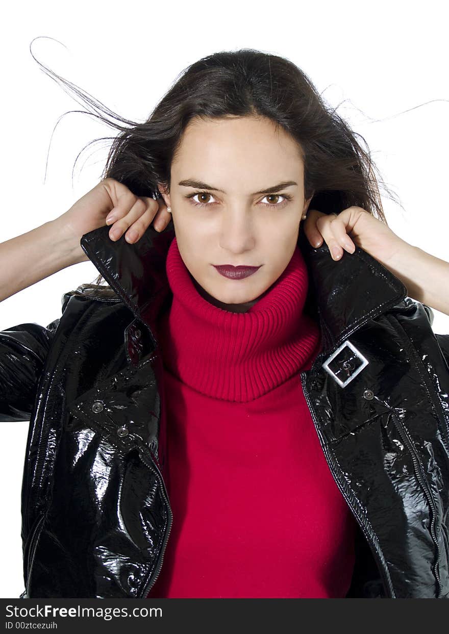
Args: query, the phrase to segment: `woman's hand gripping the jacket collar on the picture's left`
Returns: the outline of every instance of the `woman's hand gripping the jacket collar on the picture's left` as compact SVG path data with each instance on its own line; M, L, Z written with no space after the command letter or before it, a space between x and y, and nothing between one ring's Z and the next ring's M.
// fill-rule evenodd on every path
M125 240L134 243L140 240L152 222L156 230L162 231L170 219L164 198L138 197L126 185L113 178L105 178L59 216L55 223L74 241L75 262L85 262L89 258L80 245L85 233L110 224L111 240L118 240L126 232Z

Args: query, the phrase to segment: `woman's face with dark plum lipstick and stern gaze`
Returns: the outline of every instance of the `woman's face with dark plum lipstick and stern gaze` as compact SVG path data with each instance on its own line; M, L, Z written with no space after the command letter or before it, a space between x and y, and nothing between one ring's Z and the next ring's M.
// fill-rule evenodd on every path
M169 195L159 189L198 292L233 312L247 311L289 264L311 200L296 141L256 117L192 120L171 165ZM259 268L231 279L214 266L226 264Z

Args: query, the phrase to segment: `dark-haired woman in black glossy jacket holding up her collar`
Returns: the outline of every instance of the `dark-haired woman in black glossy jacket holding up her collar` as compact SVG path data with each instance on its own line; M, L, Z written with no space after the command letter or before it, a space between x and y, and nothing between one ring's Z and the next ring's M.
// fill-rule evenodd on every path
M87 259L108 283L0 333L22 597L449 597L449 264L373 170L292 63L216 53L1 245L2 299Z

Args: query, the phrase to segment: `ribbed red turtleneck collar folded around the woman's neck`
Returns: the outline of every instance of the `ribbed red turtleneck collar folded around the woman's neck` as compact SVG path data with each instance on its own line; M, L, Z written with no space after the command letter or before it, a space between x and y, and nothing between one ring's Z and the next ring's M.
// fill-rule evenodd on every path
M246 313L223 310L198 293L176 238L166 271L173 297L159 324L164 365L198 392L252 401L308 368L318 354L320 329L303 313L308 273L298 246L282 275Z

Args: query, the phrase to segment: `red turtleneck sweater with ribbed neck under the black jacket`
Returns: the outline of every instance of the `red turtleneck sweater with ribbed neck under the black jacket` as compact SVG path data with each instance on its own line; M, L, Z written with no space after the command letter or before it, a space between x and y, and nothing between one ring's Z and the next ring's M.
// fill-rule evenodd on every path
M299 247L246 313L197 292L176 238L166 269L173 299L159 339L173 524L148 597L344 597L356 524L301 387L320 331L303 313Z

